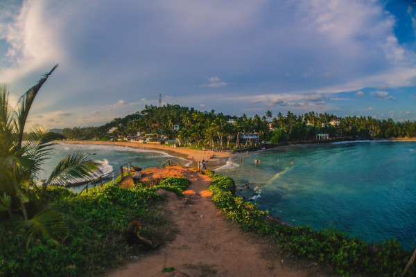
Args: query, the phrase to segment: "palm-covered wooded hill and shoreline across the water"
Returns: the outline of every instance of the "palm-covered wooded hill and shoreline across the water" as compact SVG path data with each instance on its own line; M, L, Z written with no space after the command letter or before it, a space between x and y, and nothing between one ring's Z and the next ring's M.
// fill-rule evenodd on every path
M233 119L234 123L228 120ZM331 123L332 122L332 123ZM271 124L271 129L270 129ZM178 125L179 129L174 126ZM106 134L110 127L116 127L112 134ZM152 134L155 141L179 139L182 145L198 149L234 149L245 148L257 143L257 140L243 139L242 134L258 133L259 141L271 141L277 144L284 141L313 140L316 134L329 134L331 138L343 139L390 139L392 137L416 136L416 121L395 123L391 118L379 120L367 117L347 116L340 118L333 114L295 115L288 111L286 116L280 112L272 117L272 111L264 116L255 114L252 118L216 114L214 110L198 111L179 105L163 107L146 106L143 111L114 118L111 123L101 127L73 127L64 129L69 139L108 140L132 138L137 132Z

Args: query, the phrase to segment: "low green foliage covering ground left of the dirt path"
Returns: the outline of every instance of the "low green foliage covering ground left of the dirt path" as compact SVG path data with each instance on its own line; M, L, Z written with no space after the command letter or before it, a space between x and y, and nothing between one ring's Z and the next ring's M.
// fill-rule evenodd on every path
M123 230L133 218L144 225L140 233L158 242L164 235L162 214L153 202L164 199L152 189L130 189L107 184L75 195L66 188L51 187L45 199L65 219L68 235L61 243L47 238L28 245L21 219L0 222L0 276L96 276L117 265L122 258L137 256L137 247L128 247ZM184 189L183 178L164 181L166 187ZM175 185L176 184L176 185ZM159 241L160 242L160 241Z

